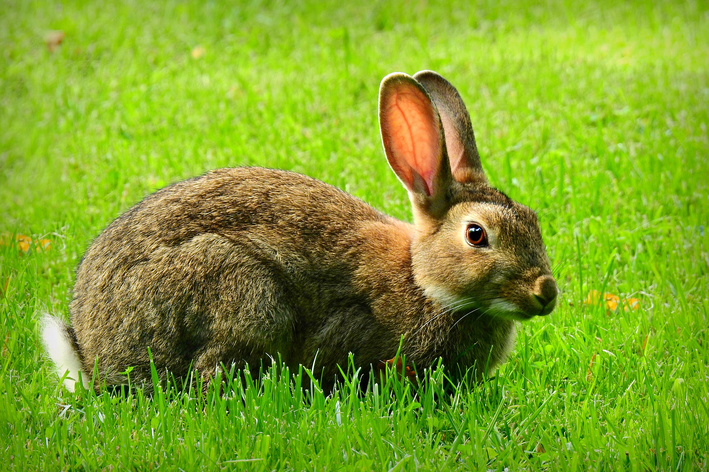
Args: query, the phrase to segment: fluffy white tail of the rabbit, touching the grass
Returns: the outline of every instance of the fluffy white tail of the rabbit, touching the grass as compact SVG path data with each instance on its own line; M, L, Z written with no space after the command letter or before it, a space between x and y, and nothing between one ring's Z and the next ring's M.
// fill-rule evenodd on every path
M44 315L42 342L44 349L54 362L57 375L60 379L64 378L64 386L67 390L73 392L79 378L81 378L84 388L89 387L86 374L81 371L79 353L74 349L63 321L49 314Z

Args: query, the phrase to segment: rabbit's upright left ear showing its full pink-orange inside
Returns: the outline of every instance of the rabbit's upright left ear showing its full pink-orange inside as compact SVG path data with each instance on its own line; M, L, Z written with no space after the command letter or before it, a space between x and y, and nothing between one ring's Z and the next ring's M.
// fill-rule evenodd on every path
M404 186L425 206L438 206L451 180L443 128L431 97L411 76L393 73L382 80L379 128L389 165Z

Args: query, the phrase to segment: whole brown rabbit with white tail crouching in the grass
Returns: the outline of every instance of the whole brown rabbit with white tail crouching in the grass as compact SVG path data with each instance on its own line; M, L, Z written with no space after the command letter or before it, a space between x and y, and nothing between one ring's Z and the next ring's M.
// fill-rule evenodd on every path
M149 380L148 348L161 375L192 366L209 378L280 355L325 385L349 353L366 369L400 345L419 369L502 362L514 320L556 303L535 213L488 185L465 105L435 72L385 77L379 121L413 225L280 170L220 169L159 190L89 247L72 326L45 318L66 386L79 372L89 385L94 365L108 385L129 367Z

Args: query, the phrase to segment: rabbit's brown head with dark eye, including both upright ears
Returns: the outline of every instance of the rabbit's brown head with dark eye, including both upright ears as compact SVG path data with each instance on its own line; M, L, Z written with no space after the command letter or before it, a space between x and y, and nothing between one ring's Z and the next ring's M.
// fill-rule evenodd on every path
M426 295L453 311L549 314L558 290L537 216L488 184L456 89L431 71L390 74L379 121L413 206L412 264Z

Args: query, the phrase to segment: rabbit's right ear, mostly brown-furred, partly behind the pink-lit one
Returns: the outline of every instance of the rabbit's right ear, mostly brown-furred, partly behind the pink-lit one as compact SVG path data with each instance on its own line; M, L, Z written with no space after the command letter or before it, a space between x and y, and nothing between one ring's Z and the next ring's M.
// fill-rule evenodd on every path
M487 183L470 115L458 91L441 75L430 70L414 74L436 104L446 136L446 149L453 178L458 182Z

